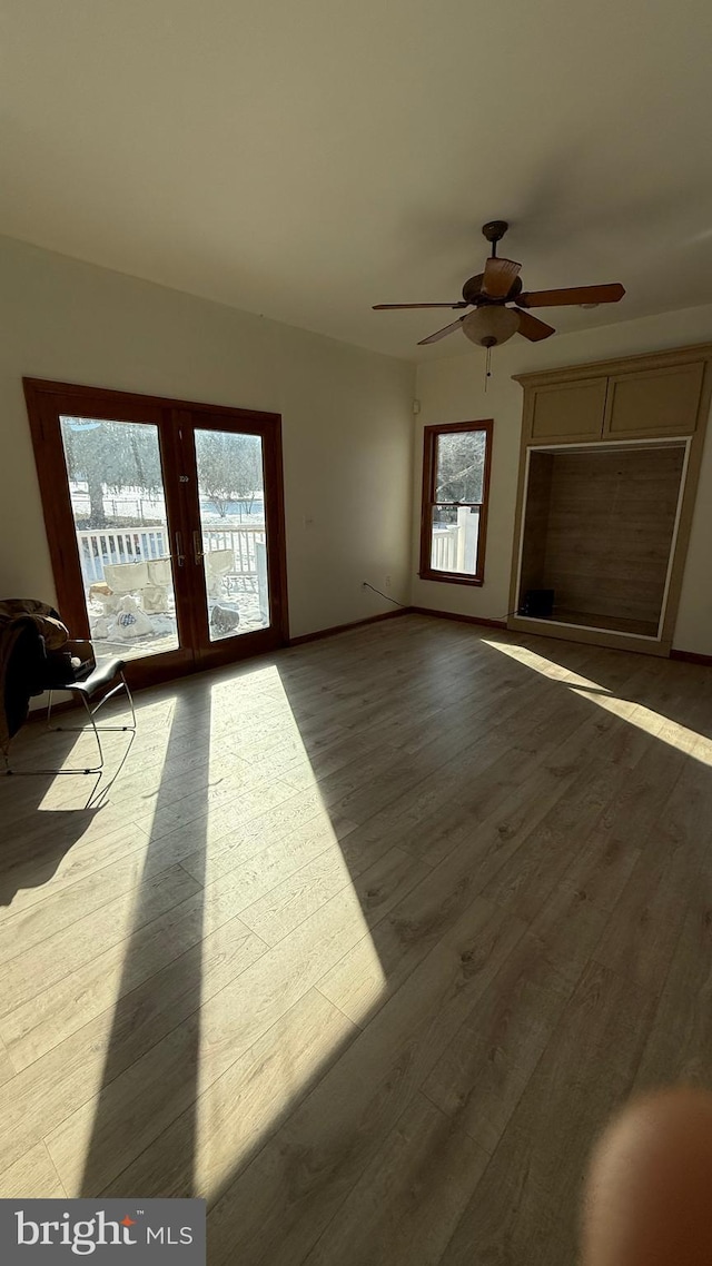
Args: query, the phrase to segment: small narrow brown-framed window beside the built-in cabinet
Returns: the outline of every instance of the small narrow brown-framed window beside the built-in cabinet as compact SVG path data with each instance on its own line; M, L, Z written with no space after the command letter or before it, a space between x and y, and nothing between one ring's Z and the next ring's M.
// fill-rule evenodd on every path
M423 580L483 584L490 461L492 420L426 427Z

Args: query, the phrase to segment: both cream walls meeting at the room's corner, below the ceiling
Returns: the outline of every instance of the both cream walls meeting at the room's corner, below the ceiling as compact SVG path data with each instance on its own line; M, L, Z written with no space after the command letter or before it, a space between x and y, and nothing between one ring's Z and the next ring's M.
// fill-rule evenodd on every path
M220 304L0 238L0 595L54 600L23 375L283 414L293 636L388 610L361 581L433 610L508 609L522 390L513 373L712 342L712 306L418 368ZM410 400L422 410L412 461ZM414 579L422 427L494 418L481 589ZM410 519L410 506L413 515ZM310 528L304 519L312 519ZM410 530L412 523L412 530ZM413 546L413 552L410 553ZM712 655L712 428L674 636Z

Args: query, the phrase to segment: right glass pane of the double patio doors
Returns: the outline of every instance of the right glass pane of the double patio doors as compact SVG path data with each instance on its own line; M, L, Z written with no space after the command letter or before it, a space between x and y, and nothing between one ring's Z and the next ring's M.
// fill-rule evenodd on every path
M195 428L210 642L270 627L262 438Z

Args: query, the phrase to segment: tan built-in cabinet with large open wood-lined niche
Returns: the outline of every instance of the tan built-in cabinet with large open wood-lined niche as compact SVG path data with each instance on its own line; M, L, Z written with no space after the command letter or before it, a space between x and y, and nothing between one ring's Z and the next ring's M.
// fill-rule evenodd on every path
M511 627L668 655L712 346L518 381L524 405Z

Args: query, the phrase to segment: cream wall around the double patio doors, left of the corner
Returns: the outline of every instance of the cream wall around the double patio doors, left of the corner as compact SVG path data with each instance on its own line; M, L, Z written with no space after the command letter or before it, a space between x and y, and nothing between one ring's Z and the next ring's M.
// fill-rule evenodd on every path
M408 601L412 365L9 238L0 314L1 596L54 601L24 375L281 413L291 634Z

